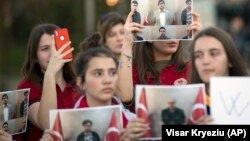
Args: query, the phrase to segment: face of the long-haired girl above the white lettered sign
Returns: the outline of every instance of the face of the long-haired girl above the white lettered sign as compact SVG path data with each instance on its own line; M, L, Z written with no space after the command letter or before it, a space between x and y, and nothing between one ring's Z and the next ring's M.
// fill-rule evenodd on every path
M214 37L199 38L194 45L195 67L203 82L212 76L228 76L232 67L222 43Z

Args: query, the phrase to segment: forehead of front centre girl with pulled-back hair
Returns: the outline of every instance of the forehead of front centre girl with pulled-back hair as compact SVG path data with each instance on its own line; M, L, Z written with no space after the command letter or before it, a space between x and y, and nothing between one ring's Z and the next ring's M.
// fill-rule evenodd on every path
M115 61L110 57L93 57L88 63L88 70L116 68Z

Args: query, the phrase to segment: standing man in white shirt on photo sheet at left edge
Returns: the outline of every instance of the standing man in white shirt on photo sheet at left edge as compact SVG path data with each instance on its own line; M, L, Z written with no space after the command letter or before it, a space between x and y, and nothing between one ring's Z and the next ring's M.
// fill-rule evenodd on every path
M10 103L8 103L8 95L3 94L2 105L0 106L1 121L8 121L13 118L13 109Z

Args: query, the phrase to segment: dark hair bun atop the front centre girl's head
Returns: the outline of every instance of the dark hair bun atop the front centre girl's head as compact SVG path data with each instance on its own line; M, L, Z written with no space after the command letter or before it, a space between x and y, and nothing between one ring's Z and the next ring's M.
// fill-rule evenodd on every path
M85 51L88 48L91 47L100 47L101 46L101 34L98 32L95 32L94 34L90 35L86 39L84 39L79 44L80 51Z

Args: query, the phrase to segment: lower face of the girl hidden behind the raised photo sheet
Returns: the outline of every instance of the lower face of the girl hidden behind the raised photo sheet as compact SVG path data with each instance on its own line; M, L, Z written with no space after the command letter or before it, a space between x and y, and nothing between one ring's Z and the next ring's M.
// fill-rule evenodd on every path
M154 41L153 44L153 54L155 60L170 60L172 55L176 53L180 41L170 40L170 41Z

